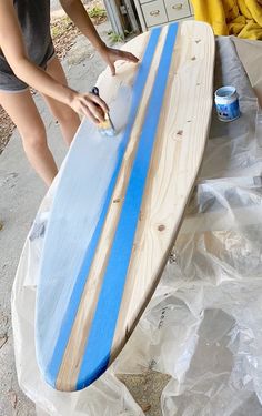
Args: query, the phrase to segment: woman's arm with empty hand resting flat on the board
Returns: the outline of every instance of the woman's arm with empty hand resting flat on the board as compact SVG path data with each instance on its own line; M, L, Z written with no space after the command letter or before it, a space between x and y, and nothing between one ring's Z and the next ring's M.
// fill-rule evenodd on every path
M124 60L137 63L139 60L130 52L120 51L118 49L108 48L105 43L99 37L92 21L90 20L87 10L84 9L81 0L60 0L60 3L81 30L81 32L89 39L92 45L101 54L102 59L108 63L112 74L115 74L114 62L118 60Z

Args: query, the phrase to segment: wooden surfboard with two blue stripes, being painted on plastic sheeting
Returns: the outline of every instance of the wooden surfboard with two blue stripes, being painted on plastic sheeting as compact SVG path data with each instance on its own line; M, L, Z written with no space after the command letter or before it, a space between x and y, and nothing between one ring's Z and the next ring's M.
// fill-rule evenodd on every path
M82 122L59 174L36 304L39 368L53 388L92 384L159 283L201 166L213 102L205 23L154 28L99 78L117 134Z

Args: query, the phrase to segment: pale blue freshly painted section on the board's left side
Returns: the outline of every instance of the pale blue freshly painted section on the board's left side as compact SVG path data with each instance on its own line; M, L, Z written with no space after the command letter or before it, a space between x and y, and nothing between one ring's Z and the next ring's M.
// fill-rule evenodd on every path
M111 109L118 131L127 125L131 89L124 88ZM118 108L118 103L120 106ZM88 120L81 124L57 186L44 237L36 304L38 363L46 372L99 221L123 134L103 138Z

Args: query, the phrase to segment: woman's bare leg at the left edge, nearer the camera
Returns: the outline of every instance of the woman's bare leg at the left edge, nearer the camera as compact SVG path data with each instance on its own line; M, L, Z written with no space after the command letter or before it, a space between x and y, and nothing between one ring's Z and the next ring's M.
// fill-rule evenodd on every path
M58 169L47 143L42 119L30 92L1 91L0 103L18 128L28 160L49 186Z

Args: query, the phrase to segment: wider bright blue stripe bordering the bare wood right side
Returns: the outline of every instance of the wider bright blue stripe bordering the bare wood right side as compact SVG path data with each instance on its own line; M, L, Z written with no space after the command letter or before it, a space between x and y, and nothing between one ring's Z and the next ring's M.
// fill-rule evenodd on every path
M104 273L103 285L89 333L77 389L81 389L92 383L107 369L109 364L177 31L178 24L172 24L167 34L123 207Z

